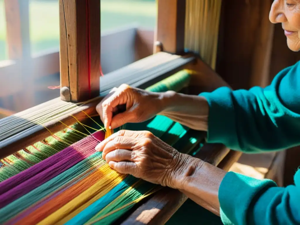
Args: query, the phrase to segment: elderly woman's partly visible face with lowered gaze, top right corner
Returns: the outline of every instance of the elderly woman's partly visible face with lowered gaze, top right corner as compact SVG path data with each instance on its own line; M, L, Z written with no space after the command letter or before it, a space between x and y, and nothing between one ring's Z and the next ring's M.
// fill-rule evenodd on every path
M269 19L281 23L287 46L294 52L300 50L300 0L274 0Z

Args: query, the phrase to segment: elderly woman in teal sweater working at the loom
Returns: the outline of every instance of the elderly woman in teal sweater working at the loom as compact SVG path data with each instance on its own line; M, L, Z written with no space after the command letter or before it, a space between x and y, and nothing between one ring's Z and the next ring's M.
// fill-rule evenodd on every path
M300 51L300 0L274 0L269 19L282 24L289 49ZM190 128L208 131L210 143L259 153L300 145L299 93L300 61L280 71L266 88L232 91L222 87L192 96L122 85L98 105L98 112L105 126L113 128L165 115ZM128 109L113 117L119 104ZM179 153L149 132L120 131L96 149L103 151L103 158L120 173L187 194L221 216L214 224L300 224L300 170L294 175L295 185L277 187L271 180L226 173Z

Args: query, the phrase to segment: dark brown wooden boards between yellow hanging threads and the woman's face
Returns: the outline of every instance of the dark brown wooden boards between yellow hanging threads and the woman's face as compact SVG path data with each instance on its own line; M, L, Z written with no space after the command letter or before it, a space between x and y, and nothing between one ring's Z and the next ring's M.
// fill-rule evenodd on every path
M219 40L222 52L216 71L233 89L268 82L274 26L268 21L270 7L271 0L223 1Z

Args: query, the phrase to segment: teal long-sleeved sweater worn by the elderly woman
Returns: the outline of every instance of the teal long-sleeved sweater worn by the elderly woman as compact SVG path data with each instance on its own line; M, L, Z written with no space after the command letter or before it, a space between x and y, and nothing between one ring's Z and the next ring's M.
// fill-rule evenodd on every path
M266 88L222 87L201 95L209 104L208 142L247 153L300 145L300 61ZM229 172L219 201L224 224L300 224L300 170L287 187Z

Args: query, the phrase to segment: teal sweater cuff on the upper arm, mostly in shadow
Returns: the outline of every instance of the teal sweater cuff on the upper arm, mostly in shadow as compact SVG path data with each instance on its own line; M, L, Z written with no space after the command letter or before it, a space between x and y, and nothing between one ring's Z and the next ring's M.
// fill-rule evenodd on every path
M222 143L230 149L239 149L235 125L235 111L232 91L221 87L200 96L208 102L208 143Z

